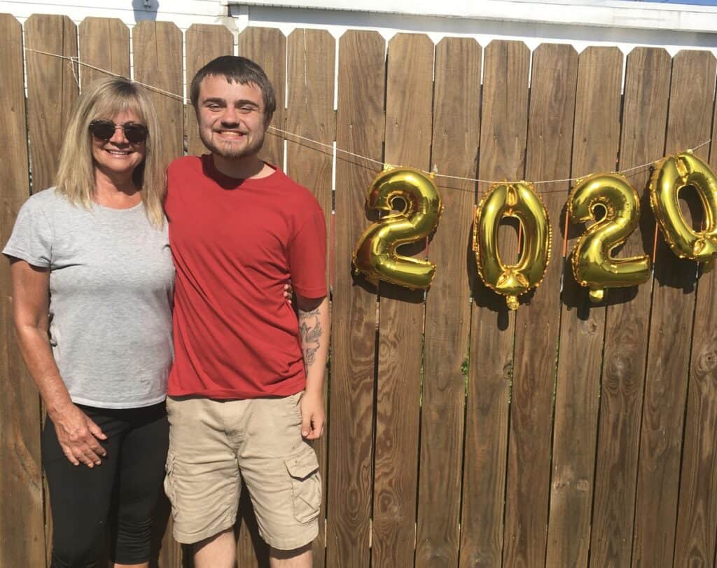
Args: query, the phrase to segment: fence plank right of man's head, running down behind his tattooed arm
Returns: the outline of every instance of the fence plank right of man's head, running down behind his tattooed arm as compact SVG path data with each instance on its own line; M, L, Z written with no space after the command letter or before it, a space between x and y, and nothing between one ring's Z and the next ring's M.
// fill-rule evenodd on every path
M333 83L336 42L331 34L316 29L297 29L288 38L288 108L287 130L324 144L318 146L288 136L286 169L289 176L308 187L326 215L328 244L331 245L331 175L336 136L336 114L333 111ZM327 265L328 268L328 265ZM328 270L327 270L328 273ZM328 276L328 274L327 274ZM328 394L328 369L324 377L324 399ZM327 425L330 427L330 425ZM339 427L343 425L339 424ZM328 427L326 432L328 432ZM326 495L325 435L313 442ZM323 568L326 561L326 498L321 500L319 536L313 542L313 566Z

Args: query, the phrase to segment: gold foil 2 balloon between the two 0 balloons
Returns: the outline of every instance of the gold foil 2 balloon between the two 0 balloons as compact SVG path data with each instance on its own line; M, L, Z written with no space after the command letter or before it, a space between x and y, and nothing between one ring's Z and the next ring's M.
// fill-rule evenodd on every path
M622 245L637 227L637 191L619 174L593 174L579 179L568 198L572 221L595 221L597 209L604 209L605 214L581 235L573 249L572 262L575 280L589 288L594 302L602 300L605 288L636 286L650 278L649 256L611 255L614 247Z

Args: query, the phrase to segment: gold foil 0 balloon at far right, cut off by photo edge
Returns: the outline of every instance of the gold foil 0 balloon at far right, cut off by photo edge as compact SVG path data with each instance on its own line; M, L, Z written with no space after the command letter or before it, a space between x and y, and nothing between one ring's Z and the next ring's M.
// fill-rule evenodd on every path
M702 202L701 231L690 227L680 211L678 197L686 186L692 186ZM692 151L657 161L650 179L650 205L675 255L712 264L717 254L717 180L707 164Z

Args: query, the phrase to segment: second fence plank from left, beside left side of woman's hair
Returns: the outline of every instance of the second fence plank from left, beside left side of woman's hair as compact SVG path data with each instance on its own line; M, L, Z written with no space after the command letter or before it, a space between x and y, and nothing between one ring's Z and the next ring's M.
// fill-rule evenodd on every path
M25 22L27 48L27 126L32 187L51 186L57 172L62 135L75 108L77 65L38 51L77 57L77 27L67 16L35 14Z

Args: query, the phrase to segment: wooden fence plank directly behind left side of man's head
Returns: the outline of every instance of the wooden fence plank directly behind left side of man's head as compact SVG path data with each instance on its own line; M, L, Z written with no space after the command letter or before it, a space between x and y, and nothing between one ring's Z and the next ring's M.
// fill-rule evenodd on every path
M234 37L226 26L194 24L186 31L186 98L189 99L189 85L197 71L221 55L234 54ZM184 106L184 136L187 153L199 156L207 149L199 138L196 113L191 103Z

